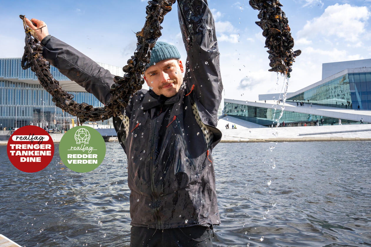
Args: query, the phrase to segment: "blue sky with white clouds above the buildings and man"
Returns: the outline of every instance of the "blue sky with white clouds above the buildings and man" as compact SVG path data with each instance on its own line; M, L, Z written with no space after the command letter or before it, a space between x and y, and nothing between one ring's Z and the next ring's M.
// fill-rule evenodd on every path
M269 60L257 10L247 0L209 0L216 21L224 97L257 100L280 92L282 77L268 72ZM301 49L289 82L296 91L321 80L322 63L371 58L371 0L282 0ZM19 14L46 22L49 33L93 60L122 67L134 53L135 32L145 21L143 0L4 1L0 0L0 57L22 57L24 31ZM160 40L177 45L185 59L176 5L165 16Z

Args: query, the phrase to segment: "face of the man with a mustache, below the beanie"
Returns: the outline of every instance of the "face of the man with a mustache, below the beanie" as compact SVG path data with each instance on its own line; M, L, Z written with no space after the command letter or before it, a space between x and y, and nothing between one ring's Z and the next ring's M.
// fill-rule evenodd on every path
M183 83L183 72L184 67L180 60L167 59L150 66L144 72L144 79L155 94L171 97Z

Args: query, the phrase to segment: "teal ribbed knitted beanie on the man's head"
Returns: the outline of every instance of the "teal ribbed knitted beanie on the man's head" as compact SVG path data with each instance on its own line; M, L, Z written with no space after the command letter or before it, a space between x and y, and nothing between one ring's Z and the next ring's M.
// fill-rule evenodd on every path
M148 67L154 65L154 63L166 59L180 59L179 51L177 47L169 43L157 41L151 52L150 63L147 64L146 67L148 69Z

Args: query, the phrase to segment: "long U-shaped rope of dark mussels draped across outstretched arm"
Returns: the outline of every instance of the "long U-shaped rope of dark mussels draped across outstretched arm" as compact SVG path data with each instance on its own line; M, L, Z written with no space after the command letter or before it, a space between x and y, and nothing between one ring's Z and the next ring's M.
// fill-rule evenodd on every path
M161 36L165 14L171 10L175 0L152 0L148 1L146 8L146 21L141 31L137 33L137 49L134 56L124 66L124 77L116 76L115 84L111 87L111 97L104 107L96 107L87 103L77 103L73 95L65 92L59 82L50 73L50 64L42 56L42 46L37 39L36 32L27 27L25 16L19 17L23 20L23 27L26 32L24 54L22 57L22 69L31 68L44 89L52 95L52 100L60 109L78 117L81 123L85 121L98 121L109 119L112 116L121 114L131 96L142 88L144 83L143 73L146 64L150 63L151 51L157 39Z

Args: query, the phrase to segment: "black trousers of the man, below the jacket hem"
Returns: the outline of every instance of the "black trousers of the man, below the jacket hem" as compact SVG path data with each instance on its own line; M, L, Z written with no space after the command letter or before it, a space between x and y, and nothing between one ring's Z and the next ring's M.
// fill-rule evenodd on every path
M130 247L212 247L213 234L212 229L203 226L164 230L132 226Z

